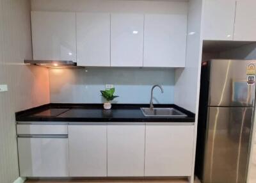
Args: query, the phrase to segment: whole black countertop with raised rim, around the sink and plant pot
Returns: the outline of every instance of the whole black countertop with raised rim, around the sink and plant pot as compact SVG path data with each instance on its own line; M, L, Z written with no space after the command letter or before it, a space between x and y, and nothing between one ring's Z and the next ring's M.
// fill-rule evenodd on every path
M17 112L19 122L195 122L195 114L175 104L154 104L154 107L173 107L186 117L144 116L140 107L148 104L112 104L104 110L102 104L45 104Z

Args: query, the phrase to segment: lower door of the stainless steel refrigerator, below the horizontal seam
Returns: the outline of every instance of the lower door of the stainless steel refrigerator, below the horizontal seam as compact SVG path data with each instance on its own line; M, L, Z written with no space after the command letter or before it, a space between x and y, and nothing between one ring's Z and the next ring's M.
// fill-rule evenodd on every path
M203 183L245 183L253 107L209 107Z

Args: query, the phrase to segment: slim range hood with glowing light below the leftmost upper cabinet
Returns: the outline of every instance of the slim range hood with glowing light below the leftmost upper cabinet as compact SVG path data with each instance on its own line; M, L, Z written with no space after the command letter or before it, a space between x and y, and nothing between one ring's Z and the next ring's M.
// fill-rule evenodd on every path
M76 62L64 60L24 60L24 63L48 68L78 68Z

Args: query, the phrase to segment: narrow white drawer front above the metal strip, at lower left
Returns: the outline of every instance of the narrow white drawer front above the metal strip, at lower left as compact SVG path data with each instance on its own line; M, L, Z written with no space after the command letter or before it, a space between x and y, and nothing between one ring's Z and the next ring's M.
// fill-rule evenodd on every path
M17 134L68 134L67 125L17 125Z

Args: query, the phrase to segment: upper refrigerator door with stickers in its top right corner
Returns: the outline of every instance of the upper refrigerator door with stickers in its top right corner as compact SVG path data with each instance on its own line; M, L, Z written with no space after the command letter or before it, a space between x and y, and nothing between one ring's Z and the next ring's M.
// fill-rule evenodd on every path
M208 64L209 106L253 106L255 83L248 84L248 76L255 76L255 60L211 60Z

